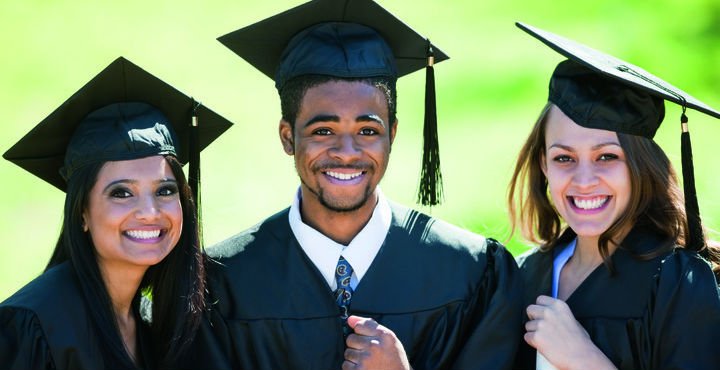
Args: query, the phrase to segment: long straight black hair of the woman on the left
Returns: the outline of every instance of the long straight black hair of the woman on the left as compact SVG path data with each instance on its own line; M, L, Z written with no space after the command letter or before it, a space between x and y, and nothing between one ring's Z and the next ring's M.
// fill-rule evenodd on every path
M178 244L161 262L150 266L138 289L133 308L140 312L140 301L152 300L150 332L154 343L154 362L161 368L177 367L176 361L192 340L205 308L205 265L198 237L198 220L190 187L175 157L165 156L178 183L183 212L183 228ZM90 190L104 163L78 169L68 181L62 231L46 270L70 261L78 275L88 302L100 309L89 310L100 333L105 362L110 367L129 367L110 296L98 267L89 233L83 231L83 212ZM136 317L136 320L141 318Z

